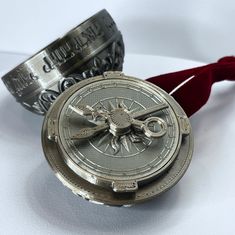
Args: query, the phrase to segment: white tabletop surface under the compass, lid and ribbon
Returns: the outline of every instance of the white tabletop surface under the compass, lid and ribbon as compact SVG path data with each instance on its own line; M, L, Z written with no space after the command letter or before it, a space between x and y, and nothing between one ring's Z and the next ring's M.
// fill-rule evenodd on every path
M1 54L0 67L22 59ZM146 78L197 65L127 55L124 71ZM191 118L195 152L182 180L155 200L113 208L76 197L59 182L43 156L43 118L17 104L0 83L0 234L234 234L235 84L219 83L212 93Z

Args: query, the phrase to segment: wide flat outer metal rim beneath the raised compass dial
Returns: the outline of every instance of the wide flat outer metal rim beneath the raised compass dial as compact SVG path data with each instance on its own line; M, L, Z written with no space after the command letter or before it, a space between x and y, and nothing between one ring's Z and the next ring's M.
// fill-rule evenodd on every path
M106 73L105 73L106 74ZM104 76L105 76L104 74ZM112 76L120 76L118 74L112 73ZM101 76L99 76L100 78ZM85 86L86 83L91 82L91 80L97 79L90 78L89 81L83 81L82 85ZM101 79L101 78L100 78ZM143 81L142 81L143 82ZM154 86L148 82L145 82L150 86ZM63 157L58 149L55 142L48 140L47 134L48 122L51 120L58 120L61 107L66 102L66 97L69 97L69 94L73 93L79 86L75 85L67 90L53 105L53 107L47 113L43 128L42 128L42 145L43 151L46 156L46 159L52 169L54 170L56 176L59 180L68 188L70 188L76 195L79 195L91 202L106 204L106 205L132 205L135 203L143 202L149 200L155 196L160 195L166 190L173 187L184 175L187 170L193 152L193 137L192 132L190 131L189 135L184 137L181 147L179 149L179 154L176 159L170 165L167 171L162 175L156 178L154 181L149 182L148 184L140 187L135 193L122 193L117 194L113 191L105 189L100 186L96 186L87 182L86 180L79 177L75 174L64 162ZM161 90L161 89L160 89ZM163 94L166 92L162 91ZM172 98L173 99L173 98ZM184 115L185 113L182 108L175 102L175 112L179 115Z

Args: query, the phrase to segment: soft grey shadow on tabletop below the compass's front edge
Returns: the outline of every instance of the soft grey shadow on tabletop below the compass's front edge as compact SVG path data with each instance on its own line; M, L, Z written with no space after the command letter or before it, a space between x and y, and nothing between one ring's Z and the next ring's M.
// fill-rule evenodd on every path
M105 207L87 202L65 188L49 170L46 162L28 178L26 196L36 214L60 229L70 232L114 232L136 230L151 225L160 230L177 207L179 185L164 195L131 208ZM180 217L178 218L180 220ZM177 221L175 221L177 223ZM171 223L171 227L174 225Z

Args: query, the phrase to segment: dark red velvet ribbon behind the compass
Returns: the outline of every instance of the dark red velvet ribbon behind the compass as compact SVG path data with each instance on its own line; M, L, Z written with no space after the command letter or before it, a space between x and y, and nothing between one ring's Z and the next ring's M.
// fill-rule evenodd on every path
M223 80L235 81L235 56L147 79L170 93L189 117L207 102L213 83Z

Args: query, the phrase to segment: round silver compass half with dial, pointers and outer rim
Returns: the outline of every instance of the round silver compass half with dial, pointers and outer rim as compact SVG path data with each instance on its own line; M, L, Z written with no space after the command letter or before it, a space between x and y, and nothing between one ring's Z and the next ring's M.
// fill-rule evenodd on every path
M170 95L106 72L58 97L44 119L42 146L56 176L75 194L132 205L180 180L193 139L186 114Z

